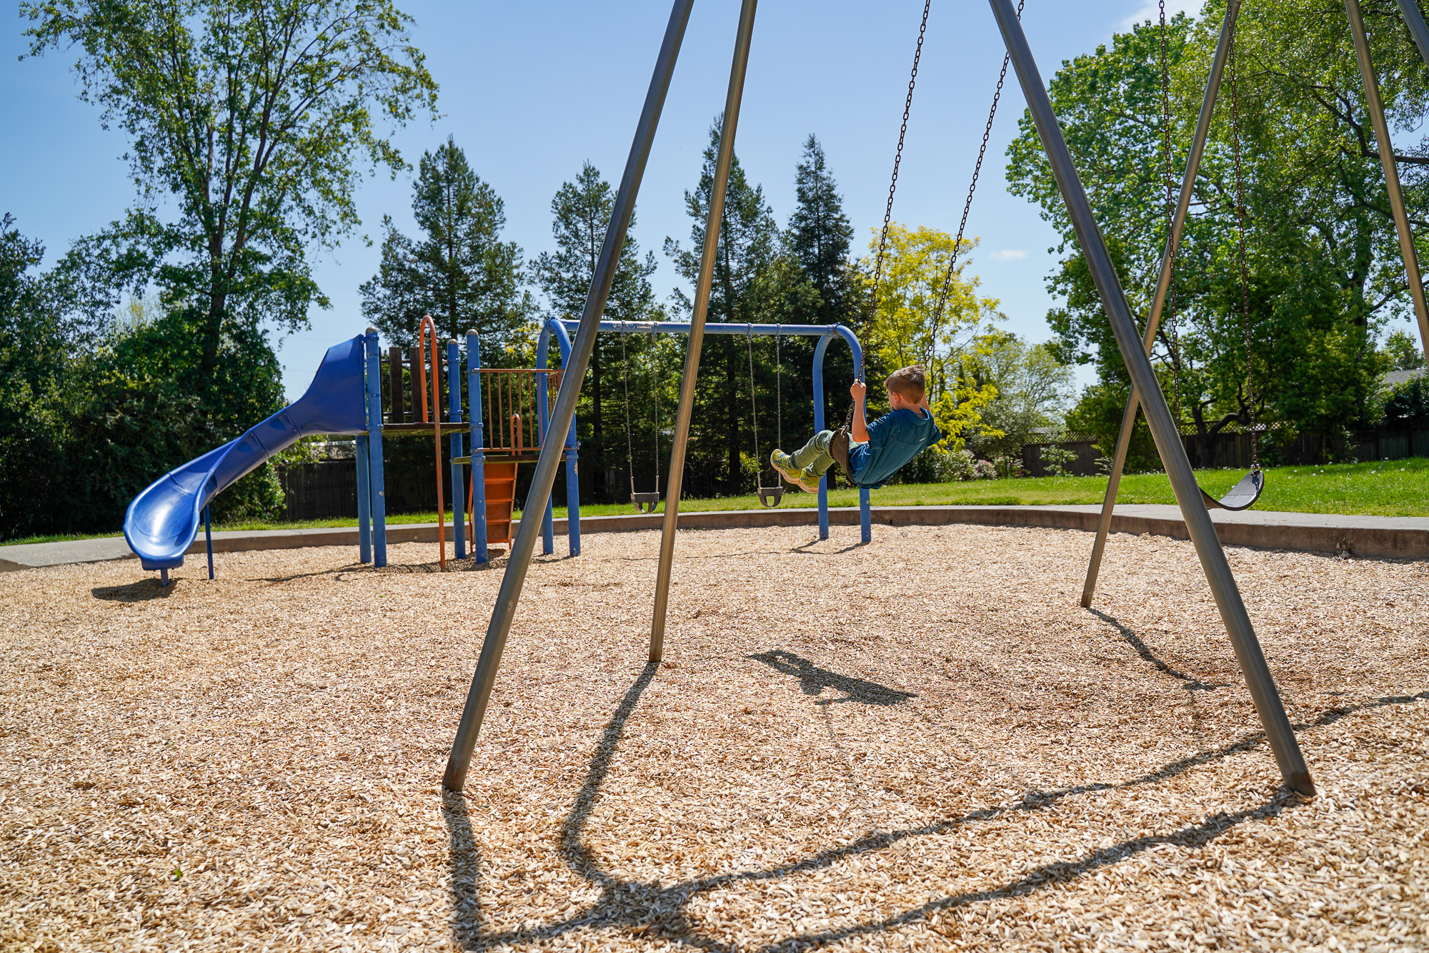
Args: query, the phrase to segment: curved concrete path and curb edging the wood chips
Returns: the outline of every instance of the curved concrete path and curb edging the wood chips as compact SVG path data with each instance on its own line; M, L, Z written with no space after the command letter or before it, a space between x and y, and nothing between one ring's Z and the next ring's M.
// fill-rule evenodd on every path
M875 507L873 522L889 527L932 527L955 522L993 527L1043 527L1050 529L1095 531L1097 505L1085 507ZM627 517L582 517L584 532L629 532L659 529L660 514ZM1342 517L1333 514L1253 511L1228 512L1215 509L1220 541L1232 547L1258 549L1299 549L1308 552L1348 552L1365 558L1429 559L1429 517ZM813 508L780 509L719 509L710 512L682 512L680 529L733 529L749 527L812 527L819 521ZM839 527L859 524L856 508L829 511L829 522ZM512 531L520 524L513 524ZM1186 539L1186 524L1180 509L1169 505L1122 505L1112 517L1112 532ZM556 534L566 534L566 521L556 521ZM450 537L450 528L447 531ZM387 527L389 542L436 542L434 522L393 524ZM564 544L557 541L557 552ZM320 529L260 529L221 531L213 534L214 552L243 552L249 549L296 549L299 547L357 547L357 527ZM190 554L203 558L200 535ZM0 572L30 570L69 562L101 562L131 559L123 537L104 539L71 539L66 542L36 542L0 547Z

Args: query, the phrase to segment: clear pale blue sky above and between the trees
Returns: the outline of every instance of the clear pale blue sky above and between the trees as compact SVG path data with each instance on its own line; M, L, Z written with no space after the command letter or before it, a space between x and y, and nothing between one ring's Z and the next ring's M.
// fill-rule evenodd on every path
M623 3L442 3L404 0L416 19L413 39L442 86L442 117L396 133L409 162L449 135L477 173L506 202L507 238L527 258L552 248L550 199L583 160L619 179L654 53L669 17L667 0ZM1167 13L1196 9L1170 0ZM793 207L793 173L812 132L866 242L882 222L907 70L923 4L917 0L766 0L755 26L749 80L736 150L763 185L776 216ZM723 106L737 0L696 3L674 83L640 190L634 236L660 258L662 296L680 283L659 255L664 236L689 240L683 193L694 185L710 120ZM1145 0L1027 0L1025 24L1043 77L1062 60L1090 52L1136 19L1155 17ZM23 21L0 39L0 213L11 212L53 262L76 238L119 218L133 200L123 160L126 142L100 127L99 110L77 99L71 57L39 60L24 52ZM919 72L913 116L893 218L953 230L962 212L986 120L1002 44L982 0L935 0ZM1046 339L1046 275L1056 235L1037 209L1006 193L1003 153L1023 99L1007 90L969 220L980 238L972 272L985 293L1002 299L1006 326ZM369 176L359 196L364 235L379 238L383 215L412 232L412 186ZM317 279L333 300L314 309L312 328L279 341L284 385L297 396L323 351L364 326L357 285L377 268L376 242L362 235L334 253L314 256Z

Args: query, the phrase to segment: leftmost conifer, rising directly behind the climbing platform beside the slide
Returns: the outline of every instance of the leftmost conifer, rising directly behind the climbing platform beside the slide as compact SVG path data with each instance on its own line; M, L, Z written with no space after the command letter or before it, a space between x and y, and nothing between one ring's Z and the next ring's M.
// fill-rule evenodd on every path
M387 339L410 346L422 318L432 315L443 338L460 341L474 329L489 365L524 356L532 303L522 290L522 249L500 239L506 206L454 139L422 155L412 215L419 240L383 219L382 265L359 288L367 321Z

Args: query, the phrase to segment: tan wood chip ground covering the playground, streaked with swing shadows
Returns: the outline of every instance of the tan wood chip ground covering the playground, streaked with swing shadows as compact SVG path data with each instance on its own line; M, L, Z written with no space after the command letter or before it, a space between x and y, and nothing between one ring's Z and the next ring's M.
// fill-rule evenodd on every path
M1230 551L1302 798L1189 544L853 532L539 559L464 796L500 562L0 575L0 949L1429 949L1429 564Z

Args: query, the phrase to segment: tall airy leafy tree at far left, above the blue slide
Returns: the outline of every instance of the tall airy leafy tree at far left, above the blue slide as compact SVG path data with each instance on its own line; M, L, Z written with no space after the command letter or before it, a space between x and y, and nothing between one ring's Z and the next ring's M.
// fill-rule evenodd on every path
M111 286L153 280L181 309L209 396L224 341L304 326L327 305L306 249L359 225L367 166L403 165L374 122L434 109L410 19L392 0L27 0L20 13L31 56L79 49L81 97L130 139L140 203L96 248L124 265Z

